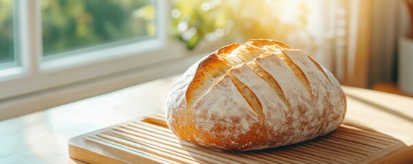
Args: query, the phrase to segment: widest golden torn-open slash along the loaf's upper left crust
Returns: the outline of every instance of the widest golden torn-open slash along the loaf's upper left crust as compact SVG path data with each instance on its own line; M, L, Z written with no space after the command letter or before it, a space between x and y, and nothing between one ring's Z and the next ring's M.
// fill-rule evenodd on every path
M272 51L271 53L262 51L262 46L268 45L270 46L268 47L268 51ZM229 69L240 64L248 64L261 55L272 55L272 53L280 53L281 49L289 48L290 47L283 42L275 40L250 40L250 42L243 45L238 43L229 44L218 49L218 51L212 53L212 55L199 64L194 80L190 83L186 92L187 107L190 108L195 105L197 100L199 100L214 83L225 74L228 74ZM291 65L293 66L293 64ZM299 72L296 74L303 76Z

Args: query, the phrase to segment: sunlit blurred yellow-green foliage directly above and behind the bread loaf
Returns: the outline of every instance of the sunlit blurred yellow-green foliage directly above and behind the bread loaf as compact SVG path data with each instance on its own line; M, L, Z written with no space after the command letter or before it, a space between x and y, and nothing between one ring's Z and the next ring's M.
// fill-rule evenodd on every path
M292 33L308 34L305 0L173 0L173 36L193 49L201 40L250 38L288 40ZM291 37L290 37L291 38ZM295 37L294 37L295 38Z

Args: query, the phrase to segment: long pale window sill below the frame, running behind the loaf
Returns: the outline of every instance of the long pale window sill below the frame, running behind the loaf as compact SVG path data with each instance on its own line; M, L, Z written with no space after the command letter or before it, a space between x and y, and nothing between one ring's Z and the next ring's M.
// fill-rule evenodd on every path
M78 83L5 98L0 100L0 120L182 73L205 55L208 53L179 57Z

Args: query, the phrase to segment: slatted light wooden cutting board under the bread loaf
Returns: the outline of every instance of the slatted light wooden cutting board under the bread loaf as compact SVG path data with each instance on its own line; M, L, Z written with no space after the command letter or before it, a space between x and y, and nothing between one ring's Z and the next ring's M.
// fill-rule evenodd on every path
M408 148L403 141L348 124L312 141L280 148L211 150L179 140L162 114L74 137L68 148L71 158L86 163L377 163L401 161L408 155L401 152Z

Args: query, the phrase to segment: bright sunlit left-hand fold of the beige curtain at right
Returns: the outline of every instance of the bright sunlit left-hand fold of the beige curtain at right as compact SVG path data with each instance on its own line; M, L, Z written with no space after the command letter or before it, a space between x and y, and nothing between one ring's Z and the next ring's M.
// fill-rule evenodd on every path
M345 77L342 84L355 87L368 85L368 57L371 48L373 0L346 1L349 13L349 33L347 38L347 54L345 57Z

